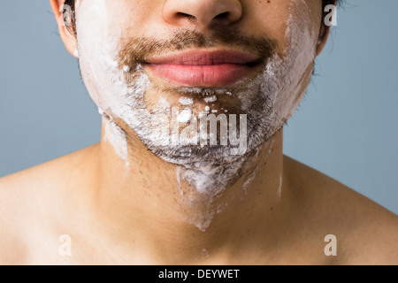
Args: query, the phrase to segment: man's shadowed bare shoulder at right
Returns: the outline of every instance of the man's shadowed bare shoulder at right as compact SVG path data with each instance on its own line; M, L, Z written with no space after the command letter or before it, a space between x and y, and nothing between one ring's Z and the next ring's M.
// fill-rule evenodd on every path
M398 217L325 174L285 157L289 182L303 204L297 209L310 231L333 234L332 264L398 264Z

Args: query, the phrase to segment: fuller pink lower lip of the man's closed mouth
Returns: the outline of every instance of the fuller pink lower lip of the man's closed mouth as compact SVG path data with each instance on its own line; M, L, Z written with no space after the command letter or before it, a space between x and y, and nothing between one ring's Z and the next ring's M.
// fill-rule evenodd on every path
M169 65L150 64L149 70L167 82L192 87L226 87L249 77L255 67L249 65Z

